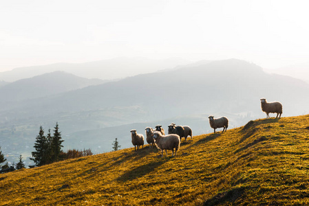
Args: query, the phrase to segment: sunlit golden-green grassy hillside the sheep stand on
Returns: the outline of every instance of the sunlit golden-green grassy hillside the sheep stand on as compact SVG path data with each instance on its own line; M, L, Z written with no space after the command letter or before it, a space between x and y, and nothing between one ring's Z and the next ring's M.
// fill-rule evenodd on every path
M129 141L129 140L128 140ZM308 205L309 115L0 174L0 205Z

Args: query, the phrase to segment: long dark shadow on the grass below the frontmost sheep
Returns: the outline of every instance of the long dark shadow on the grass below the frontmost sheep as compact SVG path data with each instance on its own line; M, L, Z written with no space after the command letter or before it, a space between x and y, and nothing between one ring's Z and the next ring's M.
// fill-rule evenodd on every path
M119 176L117 181L121 182L133 181L134 179L138 179L142 176L145 176L149 172L153 172L156 168L166 163L167 161L169 161L168 158L162 159L161 161L147 163L145 165L140 165L137 168L134 168L133 170L130 170L129 172L126 172L125 174Z

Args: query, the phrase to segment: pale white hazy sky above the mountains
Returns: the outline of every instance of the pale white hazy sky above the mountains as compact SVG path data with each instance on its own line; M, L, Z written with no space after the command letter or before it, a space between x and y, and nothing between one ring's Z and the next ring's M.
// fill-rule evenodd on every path
M309 1L0 1L0 71L119 56L308 62Z

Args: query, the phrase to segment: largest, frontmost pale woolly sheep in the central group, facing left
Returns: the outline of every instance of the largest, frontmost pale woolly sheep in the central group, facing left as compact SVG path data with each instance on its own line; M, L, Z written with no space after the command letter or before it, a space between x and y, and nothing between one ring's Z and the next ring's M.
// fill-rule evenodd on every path
M180 148L180 137L176 134L171 135L162 135L158 131L153 133L153 139L158 149L161 150L161 155L163 155L163 150L165 150L165 154L167 155L167 150L172 150L174 156L174 148L175 148L175 156L177 150Z

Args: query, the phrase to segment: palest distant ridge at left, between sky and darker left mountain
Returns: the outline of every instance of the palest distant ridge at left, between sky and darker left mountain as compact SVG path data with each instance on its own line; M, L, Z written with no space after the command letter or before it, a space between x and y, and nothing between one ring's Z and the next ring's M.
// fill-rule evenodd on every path
M171 69L178 65L187 65L189 61L181 58L153 60L149 58L112 58L85 63L56 63L33 67L20 67L12 71L0 72L0 80L14 82L24 78L32 78L53 71L65 71L83 78L101 80L117 80L140 73L151 73Z

